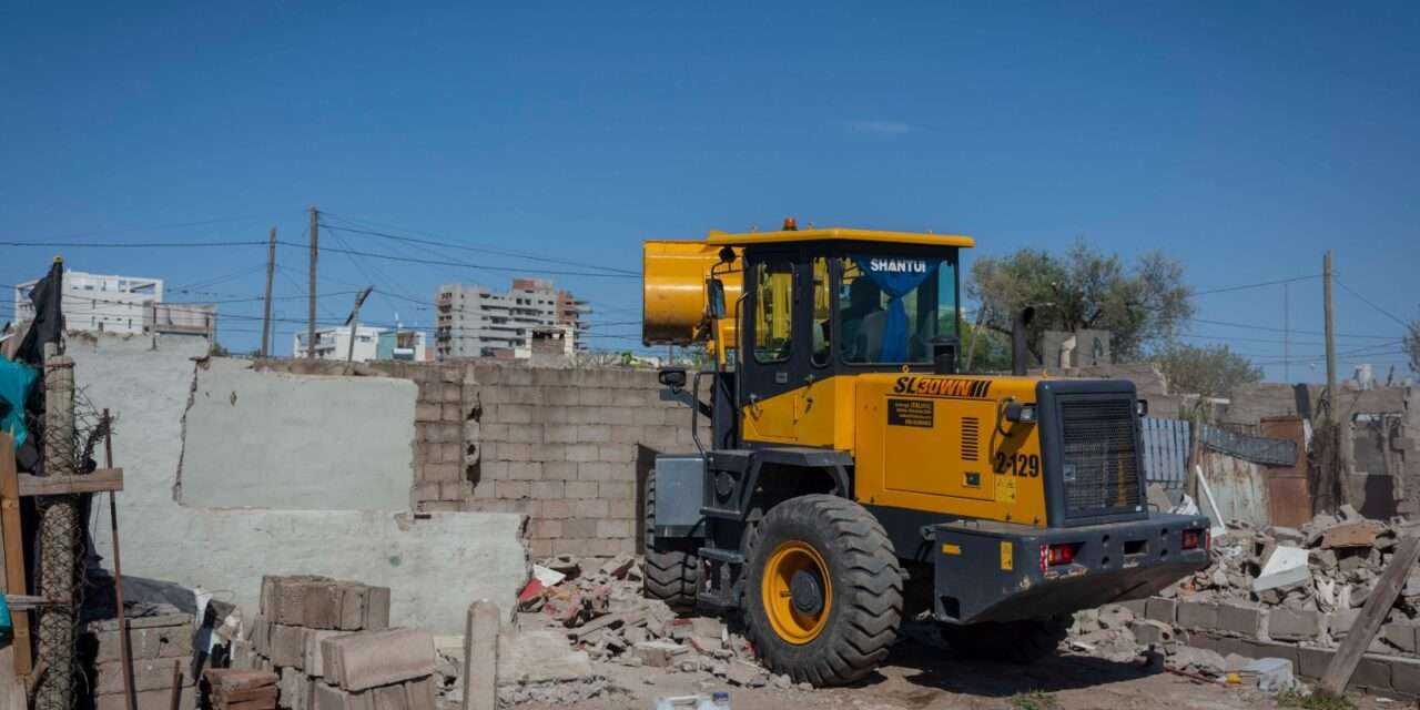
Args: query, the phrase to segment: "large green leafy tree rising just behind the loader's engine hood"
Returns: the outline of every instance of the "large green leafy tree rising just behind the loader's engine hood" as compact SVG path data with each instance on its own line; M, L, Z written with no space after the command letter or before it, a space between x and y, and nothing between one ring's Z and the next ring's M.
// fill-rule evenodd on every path
M1160 251L1142 254L1133 268L1118 254L1075 240L1065 254L1022 248L1004 257L980 257L971 266L967 294L985 308L984 325L1010 334L1021 308L1035 308L1028 344L1041 359L1044 331L1110 332L1119 361L1139 359L1152 345L1173 339L1193 315L1183 266Z

